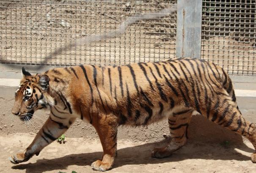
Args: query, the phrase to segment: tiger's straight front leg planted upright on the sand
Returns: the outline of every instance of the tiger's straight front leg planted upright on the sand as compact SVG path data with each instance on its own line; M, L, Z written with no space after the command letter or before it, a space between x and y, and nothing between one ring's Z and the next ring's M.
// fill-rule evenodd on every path
M106 171L112 168L116 157L117 146L117 120L113 114L102 114L97 116L98 120L93 122L103 148L101 160L91 164L94 170Z

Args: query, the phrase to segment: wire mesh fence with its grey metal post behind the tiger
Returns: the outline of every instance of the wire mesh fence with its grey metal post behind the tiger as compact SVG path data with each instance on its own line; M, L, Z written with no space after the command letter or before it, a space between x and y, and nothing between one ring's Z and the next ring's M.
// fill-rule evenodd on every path
M173 4L177 13L136 21L121 35L66 49L81 37L104 35L132 16ZM2 0L0 64L118 65L190 56L232 75L255 76L255 17L255 0Z

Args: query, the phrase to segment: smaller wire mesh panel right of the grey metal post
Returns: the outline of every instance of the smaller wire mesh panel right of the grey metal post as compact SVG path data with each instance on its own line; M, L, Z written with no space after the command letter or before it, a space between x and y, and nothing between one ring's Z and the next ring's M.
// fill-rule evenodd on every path
M256 75L255 0L203 0L201 58L229 74Z

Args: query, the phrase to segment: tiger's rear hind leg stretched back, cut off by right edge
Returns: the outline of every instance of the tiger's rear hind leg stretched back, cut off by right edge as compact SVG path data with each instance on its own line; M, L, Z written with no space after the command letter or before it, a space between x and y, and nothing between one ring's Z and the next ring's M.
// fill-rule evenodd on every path
M219 106L221 105L221 106ZM256 149L256 124L246 121L237 107L237 103L229 96L217 96L215 105L212 106L207 118L218 125L232 130L248 138ZM251 154L251 160L256 163L256 153Z

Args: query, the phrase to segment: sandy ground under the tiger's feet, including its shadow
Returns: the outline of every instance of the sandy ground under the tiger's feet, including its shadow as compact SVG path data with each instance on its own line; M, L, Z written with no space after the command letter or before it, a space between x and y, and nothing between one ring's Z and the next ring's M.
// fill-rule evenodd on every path
M26 133L0 136L1 173L71 173L72 170L77 173L95 173L90 165L102 155L99 140L66 138L65 144L55 141L28 162L11 164L8 161L9 155L21 152L32 140L33 136ZM151 150L162 144L118 141L118 157L109 172L248 173L256 170L256 164L250 161L253 146L246 141L242 144L203 144L190 141L171 157L151 158Z

